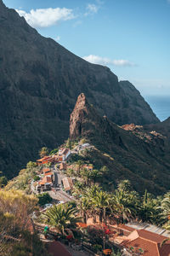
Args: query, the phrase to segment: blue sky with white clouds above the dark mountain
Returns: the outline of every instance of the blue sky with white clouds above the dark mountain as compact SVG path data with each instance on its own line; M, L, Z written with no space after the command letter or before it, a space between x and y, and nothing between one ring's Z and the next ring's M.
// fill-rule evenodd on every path
M111 68L143 96L170 96L170 0L3 0L47 38Z

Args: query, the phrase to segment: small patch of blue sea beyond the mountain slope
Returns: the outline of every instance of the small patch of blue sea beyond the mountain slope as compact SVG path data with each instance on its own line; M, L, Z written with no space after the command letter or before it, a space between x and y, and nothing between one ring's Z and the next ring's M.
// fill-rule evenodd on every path
M144 100L161 121L170 117L170 96L144 96Z

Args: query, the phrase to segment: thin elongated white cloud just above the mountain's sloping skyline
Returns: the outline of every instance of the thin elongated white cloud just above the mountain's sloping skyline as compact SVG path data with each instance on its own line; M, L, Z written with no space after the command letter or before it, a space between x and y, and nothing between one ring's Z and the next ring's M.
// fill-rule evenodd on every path
M135 66L132 62L127 61L127 60L111 60L109 58L103 58L98 55L88 55L84 56L83 59L85 61L94 63L94 64L100 64L103 66L108 66L108 65L114 65L114 66L119 66L119 67L133 67Z

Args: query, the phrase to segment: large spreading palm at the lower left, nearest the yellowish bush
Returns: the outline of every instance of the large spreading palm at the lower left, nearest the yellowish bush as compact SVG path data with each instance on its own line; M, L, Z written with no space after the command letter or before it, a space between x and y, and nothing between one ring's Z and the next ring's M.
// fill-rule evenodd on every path
M77 222L82 222L82 218L77 217L77 208L68 205L54 205L43 213L49 221L49 224L56 227L62 235L65 235L65 229L73 228Z

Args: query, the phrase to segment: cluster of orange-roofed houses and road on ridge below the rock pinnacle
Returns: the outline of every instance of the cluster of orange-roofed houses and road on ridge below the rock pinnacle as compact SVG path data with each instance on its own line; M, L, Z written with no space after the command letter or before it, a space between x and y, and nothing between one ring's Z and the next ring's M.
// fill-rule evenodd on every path
M82 145L78 145L72 150L70 148L59 148L58 154L43 156L42 159L37 160L37 166L45 167L42 167L41 172L38 173L40 180L32 180L32 192L36 194L48 192L54 201L59 201L59 203L76 200L71 195L75 177L66 175L66 171L72 168L68 161L71 158L71 154L79 154L87 148L92 148L92 146L89 143L82 143ZM93 166L84 165L82 167L93 170Z

